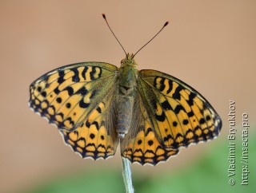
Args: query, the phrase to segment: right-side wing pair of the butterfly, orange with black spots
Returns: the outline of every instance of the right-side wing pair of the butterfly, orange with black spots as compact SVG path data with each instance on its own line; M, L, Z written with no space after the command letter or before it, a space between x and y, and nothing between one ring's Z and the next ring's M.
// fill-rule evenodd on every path
M134 114L144 118L130 128L136 132L128 133L122 143L122 156L131 162L155 165L181 147L218 136L222 120L189 85L148 69L139 71L137 85L140 108Z

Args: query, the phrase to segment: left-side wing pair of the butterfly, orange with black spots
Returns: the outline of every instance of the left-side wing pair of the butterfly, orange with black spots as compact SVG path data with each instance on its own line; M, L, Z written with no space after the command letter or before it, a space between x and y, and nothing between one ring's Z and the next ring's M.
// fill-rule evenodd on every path
M55 69L30 85L30 108L56 125L66 144L82 157L105 159L118 145L110 110L117 71L101 62Z

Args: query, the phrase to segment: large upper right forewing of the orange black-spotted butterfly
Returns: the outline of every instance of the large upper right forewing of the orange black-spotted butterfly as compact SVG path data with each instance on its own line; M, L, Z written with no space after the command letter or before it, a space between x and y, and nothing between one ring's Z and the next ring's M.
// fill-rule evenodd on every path
M138 93L162 148L178 149L218 136L222 122L217 112L197 91L177 78L155 70L141 70Z

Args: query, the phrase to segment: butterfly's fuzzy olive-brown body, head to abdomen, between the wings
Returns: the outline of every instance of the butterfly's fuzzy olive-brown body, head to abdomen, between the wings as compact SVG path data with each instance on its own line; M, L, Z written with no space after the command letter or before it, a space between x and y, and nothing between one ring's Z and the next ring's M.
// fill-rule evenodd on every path
M123 138L129 131L134 108L135 88L137 87L138 69L133 54L121 61L119 69L119 90L117 98L117 132Z

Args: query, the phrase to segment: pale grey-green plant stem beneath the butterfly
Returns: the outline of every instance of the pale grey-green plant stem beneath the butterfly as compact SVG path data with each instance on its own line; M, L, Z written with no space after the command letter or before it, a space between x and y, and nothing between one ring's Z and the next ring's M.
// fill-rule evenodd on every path
M126 185L126 193L134 193L133 182L131 179L130 161L122 157L122 177Z

